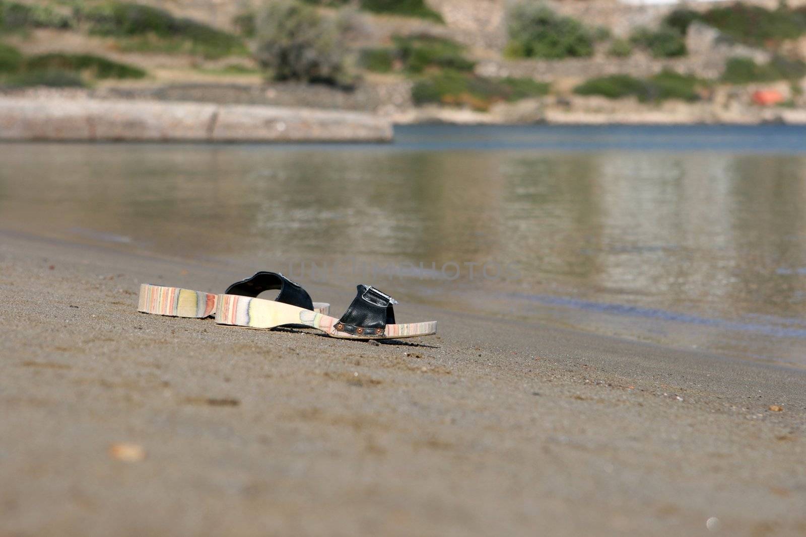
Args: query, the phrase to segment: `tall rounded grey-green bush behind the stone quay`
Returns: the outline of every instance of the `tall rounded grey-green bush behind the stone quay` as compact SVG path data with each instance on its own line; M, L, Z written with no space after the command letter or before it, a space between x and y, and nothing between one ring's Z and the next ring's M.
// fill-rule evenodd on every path
M256 58L276 81L350 85L343 29L313 7L267 2L256 19Z

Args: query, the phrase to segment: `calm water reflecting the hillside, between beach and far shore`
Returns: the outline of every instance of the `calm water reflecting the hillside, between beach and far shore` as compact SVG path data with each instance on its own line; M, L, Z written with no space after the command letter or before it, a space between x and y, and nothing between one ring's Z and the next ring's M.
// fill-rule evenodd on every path
M806 346L806 130L430 126L398 140L3 145L0 226L189 258L422 262L442 277L393 287L625 335L648 311L740 332L785 325L795 346L765 352L793 359ZM479 277L484 262L496 277ZM440 272L451 263L458 279ZM626 320L545 304L613 304ZM698 344L739 352L720 343L731 338Z

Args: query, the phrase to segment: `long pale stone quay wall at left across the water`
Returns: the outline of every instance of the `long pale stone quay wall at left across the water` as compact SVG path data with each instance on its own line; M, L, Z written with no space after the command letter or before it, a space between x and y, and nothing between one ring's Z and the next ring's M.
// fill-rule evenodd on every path
M358 112L91 98L0 98L0 140L389 142L392 124Z

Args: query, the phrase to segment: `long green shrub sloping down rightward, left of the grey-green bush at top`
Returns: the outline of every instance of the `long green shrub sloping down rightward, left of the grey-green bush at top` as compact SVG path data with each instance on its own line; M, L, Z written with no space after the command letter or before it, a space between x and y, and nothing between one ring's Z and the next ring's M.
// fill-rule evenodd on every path
M192 19L177 19L168 11L152 6L106 2L81 10L81 19L89 23L93 34L141 38L134 48L143 50L149 43L160 49L160 41L163 41L169 42L165 43L168 50L186 50L212 58L246 52L243 41L236 35ZM189 43L189 46L182 43Z

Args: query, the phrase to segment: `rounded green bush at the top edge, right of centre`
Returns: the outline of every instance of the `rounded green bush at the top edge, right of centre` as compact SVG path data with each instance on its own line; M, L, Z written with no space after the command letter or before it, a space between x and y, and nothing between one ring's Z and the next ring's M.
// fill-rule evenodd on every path
M593 54L593 37L588 28L540 3L513 6L508 14L508 29L507 56L560 59Z

